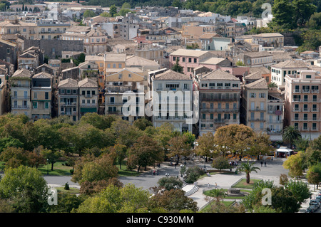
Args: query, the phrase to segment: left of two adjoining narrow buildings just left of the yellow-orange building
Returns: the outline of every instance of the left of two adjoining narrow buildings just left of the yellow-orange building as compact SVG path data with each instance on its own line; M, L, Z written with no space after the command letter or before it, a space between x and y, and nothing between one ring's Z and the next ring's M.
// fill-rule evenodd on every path
M77 80L67 78L58 84L58 115L79 120L79 87Z

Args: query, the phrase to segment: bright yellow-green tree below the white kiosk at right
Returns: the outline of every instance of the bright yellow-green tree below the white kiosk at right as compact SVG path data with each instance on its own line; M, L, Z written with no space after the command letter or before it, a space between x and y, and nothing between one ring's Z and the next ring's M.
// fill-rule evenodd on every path
M302 169L302 152L297 152L297 154L293 154L290 157L287 157L287 160L283 162L283 167L285 169L289 169L289 176L297 177L303 175Z

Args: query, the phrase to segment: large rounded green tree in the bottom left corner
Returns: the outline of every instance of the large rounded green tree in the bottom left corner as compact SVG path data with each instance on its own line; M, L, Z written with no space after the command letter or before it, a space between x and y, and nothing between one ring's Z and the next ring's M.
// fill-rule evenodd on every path
M40 171L20 166L6 169L0 181L0 197L10 199L16 212L44 212L47 203L47 184Z

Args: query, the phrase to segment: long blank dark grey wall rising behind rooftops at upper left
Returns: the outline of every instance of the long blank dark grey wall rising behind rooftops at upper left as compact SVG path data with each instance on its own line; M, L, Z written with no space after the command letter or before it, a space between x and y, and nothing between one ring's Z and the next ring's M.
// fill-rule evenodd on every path
M44 56L49 58L61 57L62 51L83 51L83 41L66 41L57 39L26 39L24 41L24 48L31 46L39 46L44 50Z

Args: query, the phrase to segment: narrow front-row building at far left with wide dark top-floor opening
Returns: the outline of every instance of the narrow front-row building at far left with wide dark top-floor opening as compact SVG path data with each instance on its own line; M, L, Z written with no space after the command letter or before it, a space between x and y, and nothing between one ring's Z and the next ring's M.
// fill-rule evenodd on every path
M31 119L51 118L52 108L52 81L49 73L37 73L31 78Z

